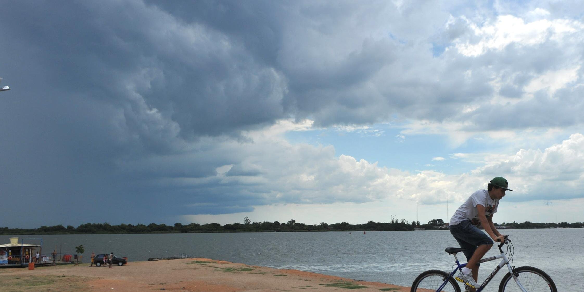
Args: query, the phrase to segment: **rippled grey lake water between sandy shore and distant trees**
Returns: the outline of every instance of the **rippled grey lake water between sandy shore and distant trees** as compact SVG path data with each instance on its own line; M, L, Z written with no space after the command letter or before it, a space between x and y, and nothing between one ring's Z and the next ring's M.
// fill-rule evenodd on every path
M503 230L515 245L515 266L534 266L554 279L558 291L584 287L584 228ZM11 236L1 235L0 243ZM189 234L91 234L15 235L43 238L43 253L74 254L85 247L91 252L114 252L130 261L176 256L179 253L247 265L298 269L350 279L411 286L419 273L429 269L450 271L454 257L446 247L458 247L449 231L305 232L305 233L189 233ZM25 241L25 243L32 243ZM488 255L498 254L493 246ZM464 255L459 259L465 262ZM479 282L499 261L481 265ZM497 291L503 268L484 291Z

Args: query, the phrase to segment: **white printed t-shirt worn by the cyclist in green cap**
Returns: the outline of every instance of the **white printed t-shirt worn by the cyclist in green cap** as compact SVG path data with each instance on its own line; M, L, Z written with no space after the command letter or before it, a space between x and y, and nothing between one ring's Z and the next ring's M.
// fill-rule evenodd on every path
M479 189L472 193L463 205L458 207L458 210L454 212L454 215L450 219L450 225L456 225L465 220L471 220L471 223L475 226L481 225L481 221L478 220L477 205L484 206L485 216L489 216L490 214L497 212L499 200L491 199L489 192L486 191L486 189Z

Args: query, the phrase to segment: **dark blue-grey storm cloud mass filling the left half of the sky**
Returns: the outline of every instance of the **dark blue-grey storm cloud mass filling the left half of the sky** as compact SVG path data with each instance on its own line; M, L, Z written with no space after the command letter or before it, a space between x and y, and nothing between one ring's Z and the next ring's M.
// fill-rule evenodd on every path
M3 212L5 224L168 220L206 197L149 180L208 177L231 160L187 141L282 117L283 77L238 40L138 1L60 4L3 5L0 64L14 90L2 192L40 207L25 220Z

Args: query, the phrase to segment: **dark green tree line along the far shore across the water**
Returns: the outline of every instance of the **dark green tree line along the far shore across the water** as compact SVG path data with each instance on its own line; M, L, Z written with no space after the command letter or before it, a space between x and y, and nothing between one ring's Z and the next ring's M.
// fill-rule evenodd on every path
M503 223L495 226L505 225L515 228L582 228L584 223ZM2 235L17 234L123 234L123 233L220 233L220 232L303 232L303 231L409 231L414 228L434 230L444 228L442 219L433 219L427 224L420 224L419 221L392 219L389 223L369 221L364 224L349 224L347 222L327 224L304 224L292 219L285 223L279 221L252 222L248 217L244 218L244 223L233 223L221 225L219 223L207 224L181 224L174 226L166 224L151 223L144 224L120 224L111 225L109 223L86 223L77 228L68 225L41 226L39 228L8 228L0 227Z

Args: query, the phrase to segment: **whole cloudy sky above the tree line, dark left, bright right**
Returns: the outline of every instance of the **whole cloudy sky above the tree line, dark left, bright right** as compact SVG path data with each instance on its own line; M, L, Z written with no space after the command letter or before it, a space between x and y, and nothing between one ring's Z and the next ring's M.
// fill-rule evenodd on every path
M2 227L584 221L584 2L0 3Z

